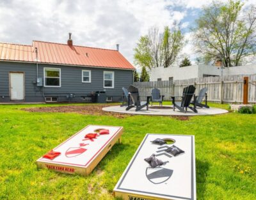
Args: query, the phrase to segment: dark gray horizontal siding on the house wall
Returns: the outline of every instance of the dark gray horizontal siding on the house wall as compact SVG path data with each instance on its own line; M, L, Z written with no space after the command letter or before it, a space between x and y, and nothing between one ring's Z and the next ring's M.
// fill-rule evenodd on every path
M122 69L103 69L75 66L56 66L38 64L38 77L44 78L44 68L61 69L61 87L36 87L36 64L18 62L0 62L0 96L5 96L0 101L10 101L9 98L9 73L11 71L24 72L25 75L25 99L26 101L43 101L43 90L45 96L60 96L61 101L67 101L65 96L74 93L77 96L86 96L91 92L105 90L108 96L121 96L122 87L132 84L132 71ZM82 82L82 70L91 70L91 83ZM115 88L104 89L103 71L115 72ZM62 97L61 97L62 96ZM76 97L76 101L81 97Z

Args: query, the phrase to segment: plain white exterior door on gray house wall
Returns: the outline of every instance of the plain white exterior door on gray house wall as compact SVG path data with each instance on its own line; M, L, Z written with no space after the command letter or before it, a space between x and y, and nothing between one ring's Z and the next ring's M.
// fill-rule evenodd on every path
M11 100L24 100L24 74L10 73Z

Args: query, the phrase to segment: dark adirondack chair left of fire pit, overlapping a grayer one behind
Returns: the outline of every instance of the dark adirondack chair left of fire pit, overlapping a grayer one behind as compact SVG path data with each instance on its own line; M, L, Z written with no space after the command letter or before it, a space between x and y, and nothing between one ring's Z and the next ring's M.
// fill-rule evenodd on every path
M128 87L128 106L126 110L130 110L132 107L136 106L135 111L139 111L145 106L147 106L148 110L148 104L149 104L149 99L150 96L147 96L147 101L140 101L140 94L138 88L134 87L133 85L130 85ZM131 104L131 101L133 101L133 104Z

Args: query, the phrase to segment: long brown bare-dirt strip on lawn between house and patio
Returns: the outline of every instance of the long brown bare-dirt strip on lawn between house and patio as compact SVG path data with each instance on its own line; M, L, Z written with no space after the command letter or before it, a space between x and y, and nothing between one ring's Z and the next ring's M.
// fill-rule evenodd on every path
M24 108L29 112L42 113L79 113L82 115L111 115L118 118L127 117L127 114L112 113L103 111L102 108L109 106L109 104L100 105L86 105L86 106L53 106L53 107L38 107L38 108Z

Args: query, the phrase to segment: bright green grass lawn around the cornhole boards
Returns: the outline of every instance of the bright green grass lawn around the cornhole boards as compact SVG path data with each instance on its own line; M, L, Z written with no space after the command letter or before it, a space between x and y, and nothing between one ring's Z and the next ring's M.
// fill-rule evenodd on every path
M147 132L195 135L198 199L256 199L255 114L182 121L21 110L35 106L56 104L0 105L0 199L114 199L113 188ZM36 159L88 124L124 126L122 144L113 146L91 175L36 169Z

